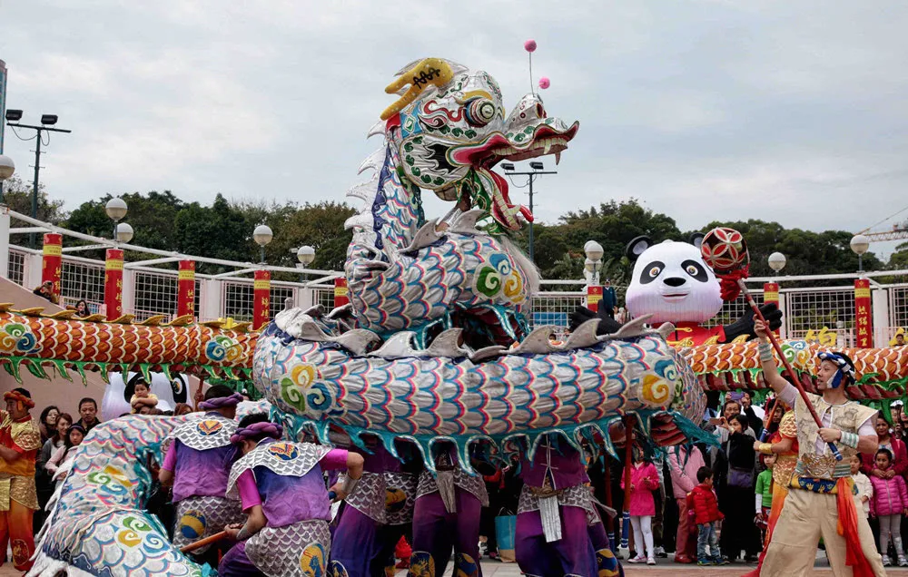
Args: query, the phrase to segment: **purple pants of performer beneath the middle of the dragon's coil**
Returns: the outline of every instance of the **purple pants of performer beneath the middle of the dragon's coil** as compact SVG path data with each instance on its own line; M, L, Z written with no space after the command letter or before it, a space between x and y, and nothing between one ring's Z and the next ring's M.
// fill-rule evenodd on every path
M413 555L409 577L441 577L454 549L454 574L482 577L479 567L479 504L457 488L457 513L448 513L438 493L425 494L413 509Z

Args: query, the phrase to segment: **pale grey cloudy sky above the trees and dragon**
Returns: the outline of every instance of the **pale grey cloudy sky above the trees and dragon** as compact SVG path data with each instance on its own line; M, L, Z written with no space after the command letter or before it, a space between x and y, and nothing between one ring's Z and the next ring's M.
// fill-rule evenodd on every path
M581 123L538 219L636 197L682 229L861 230L908 205L906 30L883 1L0 0L7 107L73 130L42 172L69 209L163 189L341 200L400 66L484 69L512 105L532 37L548 112ZM33 144L7 129L25 178Z

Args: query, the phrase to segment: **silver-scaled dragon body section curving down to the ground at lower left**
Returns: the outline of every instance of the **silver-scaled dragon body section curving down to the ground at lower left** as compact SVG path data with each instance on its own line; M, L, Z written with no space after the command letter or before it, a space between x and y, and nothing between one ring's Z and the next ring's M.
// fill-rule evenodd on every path
M163 461L163 440L187 418L126 416L92 429L45 525L33 574L54 561L109 577L209 573L175 550L143 509L152 481L143 463L149 454Z

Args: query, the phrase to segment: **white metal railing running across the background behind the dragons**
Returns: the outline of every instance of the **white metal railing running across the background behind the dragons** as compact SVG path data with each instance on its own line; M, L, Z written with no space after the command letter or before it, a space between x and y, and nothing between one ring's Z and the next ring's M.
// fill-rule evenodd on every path
M111 240L99 239L70 230L32 220L15 212L3 214L0 220L15 216L34 225L36 230L63 233L80 240L88 240L102 247L114 246ZM2 222L0 222L2 229ZM0 235L2 236L2 235ZM5 247L2 246L5 241ZM120 248L143 252L150 259L125 263L123 270L123 308L142 320L152 315L173 318L176 314L178 273L172 269L159 269L152 265L173 263L180 259L217 264L232 269L219 275L196 274L195 310L200 320L232 317L237 320L252 320L252 287L249 278L252 271L269 269L272 272L292 272L294 276L304 275L303 282L271 282L270 312L277 314L285 307L287 299L295 306L309 307L321 304L324 308L334 306L333 279L343 273L331 270L291 269L288 267L262 267L248 262L222 259L204 259L180 255L157 249L145 249L133 245L119 245ZM41 250L10 246L8 238L0 238L0 263L5 253L4 269L6 278L25 288L35 288L41 279ZM173 265L171 265L173 266ZM77 256L73 250L64 249L61 268L62 304L74 306L80 299L88 302L92 312L100 312L104 304L104 262ZM312 277L315 278L312 278ZM866 273L873 286L873 324L877 346L886 346L899 328L908 328L908 270L874 271ZM895 277L903 282L881 285L879 279ZM785 312L782 335L791 338L835 339L840 344L854 343L854 288L856 274L810 275L805 277L780 277L777 279L747 279L753 286L751 293L757 303L763 301L762 286L757 283L775 280L783 285L780 290L779 306ZM835 287L793 288L785 283L795 281L836 281ZM554 325L563 332L571 313L586 301L583 280L546 279L542 281L545 290L535 295L531 302L529 321L532 326ZM715 318L706 326L734 322L745 314L744 298L725 303ZM825 330L824 330L825 329Z

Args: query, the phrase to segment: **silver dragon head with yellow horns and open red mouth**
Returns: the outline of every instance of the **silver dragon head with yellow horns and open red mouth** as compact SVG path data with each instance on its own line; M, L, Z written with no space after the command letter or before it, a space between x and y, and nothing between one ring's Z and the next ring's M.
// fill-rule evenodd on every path
M462 209L485 210L490 232L519 230L532 220L526 207L511 204L508 181L491 169L499 161L545 154L555 154L558 162L579 122L568 126L548 116L535 93L506 116L501 90L489 73L440 58L408 64L398 76L386 92L400 93L400 99L381 119L407 179Z

